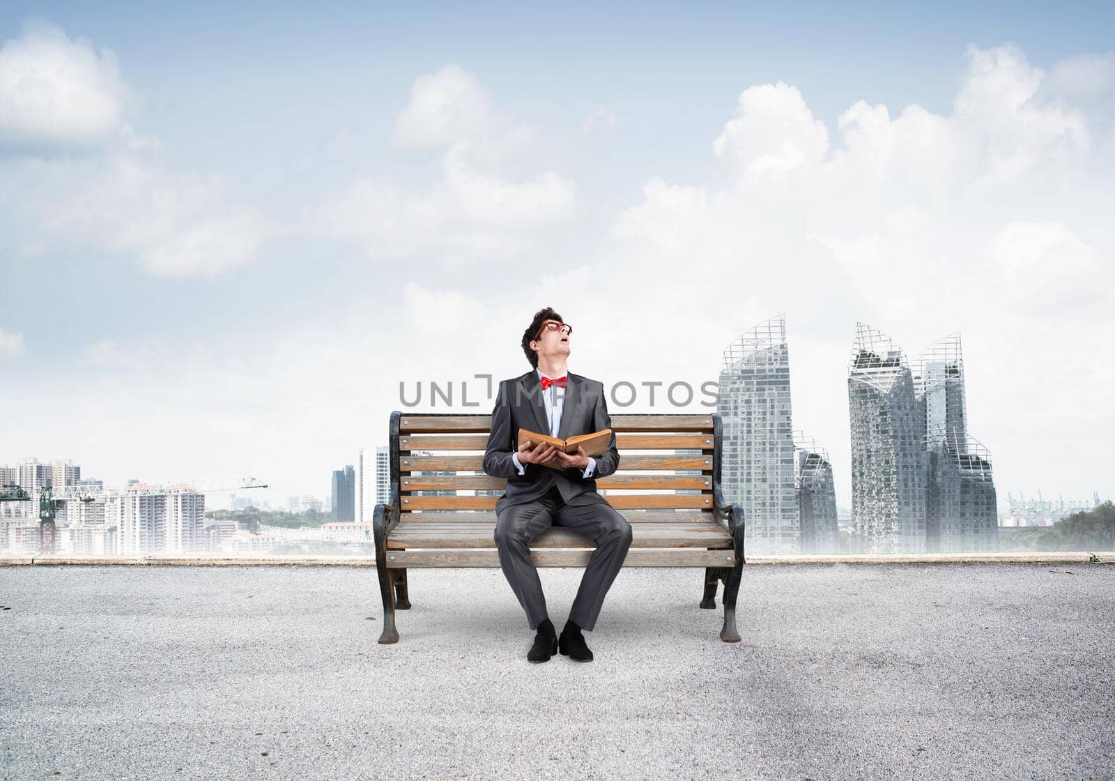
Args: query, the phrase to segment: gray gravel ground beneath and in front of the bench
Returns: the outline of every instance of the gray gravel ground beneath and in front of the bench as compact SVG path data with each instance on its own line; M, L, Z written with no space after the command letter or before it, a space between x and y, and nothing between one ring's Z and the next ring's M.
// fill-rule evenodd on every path
M542 571L560 628L581 570ZM498 570L0 568L0 778L1115 778L1115 567L626 569L591 664Z

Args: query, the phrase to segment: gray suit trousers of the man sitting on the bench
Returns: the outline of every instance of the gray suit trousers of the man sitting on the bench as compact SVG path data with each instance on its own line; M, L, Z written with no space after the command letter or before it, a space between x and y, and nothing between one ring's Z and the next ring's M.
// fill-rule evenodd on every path
M590 631L631 547L631 524L607 502L566 504L556 485L535 501L512 504L498 513L495 544L500 549L500 567L526 611L531 629L536 629L547 614L529 546L551 524L568 528L597 543L569 614L574 624Z

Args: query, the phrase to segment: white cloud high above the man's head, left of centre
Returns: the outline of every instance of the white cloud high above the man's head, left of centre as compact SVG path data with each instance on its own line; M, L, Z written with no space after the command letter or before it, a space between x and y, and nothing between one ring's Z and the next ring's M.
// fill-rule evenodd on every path
M306 220L311 233L355 241L377 259L433 255L443 266L506 258L532 231L572 218L575 185L551 171L523 174L532 135L501 126L487 89L446 66L420 76L396 139L438 155L439 176L419 187L362 176ZM520 158L515 158L518 155Z

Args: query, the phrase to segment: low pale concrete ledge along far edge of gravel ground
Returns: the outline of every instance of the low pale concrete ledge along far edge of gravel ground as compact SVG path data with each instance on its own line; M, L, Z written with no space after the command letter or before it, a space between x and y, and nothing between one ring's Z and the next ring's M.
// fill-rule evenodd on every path
M1115 563L1115 551L1095 551L1101 563ZM958 563L1088 563L1090 552L1050 551L1018 553L895 553L874 555L811 555L811 556L748 556L748 565L958 565ZM213 556L211 553L163 556L39 556L0 555L0 567L10 566L97 566L130 565L162 567L375 567L370 556Z

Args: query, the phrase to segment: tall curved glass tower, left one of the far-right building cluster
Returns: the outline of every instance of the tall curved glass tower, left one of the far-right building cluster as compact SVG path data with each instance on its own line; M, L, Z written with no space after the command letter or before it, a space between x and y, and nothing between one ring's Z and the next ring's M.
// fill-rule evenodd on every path
M855 331L847 394L856 542L867 553L924 552L924 422L913 376L889 337L862 322Z

